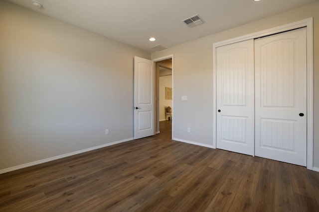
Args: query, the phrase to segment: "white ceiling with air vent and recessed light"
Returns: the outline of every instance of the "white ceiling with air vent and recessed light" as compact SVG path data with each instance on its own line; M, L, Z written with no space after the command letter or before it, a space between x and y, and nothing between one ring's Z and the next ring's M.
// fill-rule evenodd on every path
M152 53L318 0L38 0L41 9L7 1ZM196 14L204 24L182 22Z

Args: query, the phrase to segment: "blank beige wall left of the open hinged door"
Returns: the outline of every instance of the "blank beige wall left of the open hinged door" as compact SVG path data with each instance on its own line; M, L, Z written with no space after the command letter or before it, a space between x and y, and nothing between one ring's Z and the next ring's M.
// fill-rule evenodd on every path
M133 138L134 56L150 59L0 1L0 170Z

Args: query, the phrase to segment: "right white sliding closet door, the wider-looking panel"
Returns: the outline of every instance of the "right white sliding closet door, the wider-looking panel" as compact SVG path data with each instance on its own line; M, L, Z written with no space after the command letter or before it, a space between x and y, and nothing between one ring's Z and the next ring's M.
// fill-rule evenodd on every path
M306 166L306 28L255 40L255 155Z

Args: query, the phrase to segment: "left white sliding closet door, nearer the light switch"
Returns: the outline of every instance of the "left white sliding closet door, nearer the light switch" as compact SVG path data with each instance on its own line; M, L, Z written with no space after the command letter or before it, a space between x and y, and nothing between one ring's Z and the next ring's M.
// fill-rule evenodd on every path
M217 148L254 155L254 40L216 49Z

